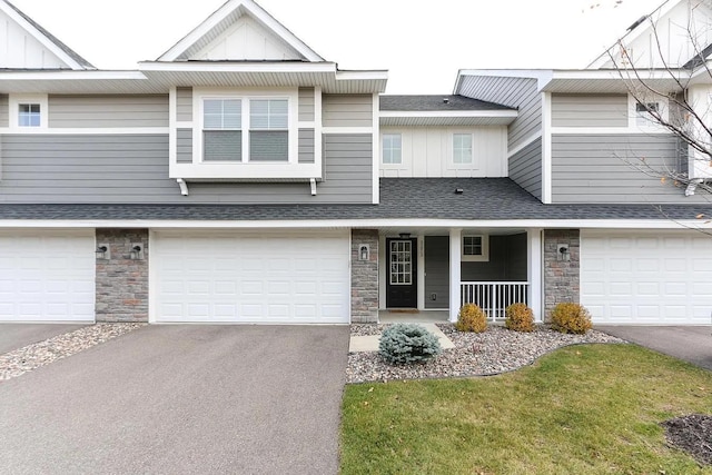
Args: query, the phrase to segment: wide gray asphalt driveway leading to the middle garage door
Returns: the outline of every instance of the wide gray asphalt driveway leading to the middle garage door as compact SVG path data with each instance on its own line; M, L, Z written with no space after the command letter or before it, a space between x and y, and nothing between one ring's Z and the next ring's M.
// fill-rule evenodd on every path
M347 326L148 326L0 383L12 474L334 474Z

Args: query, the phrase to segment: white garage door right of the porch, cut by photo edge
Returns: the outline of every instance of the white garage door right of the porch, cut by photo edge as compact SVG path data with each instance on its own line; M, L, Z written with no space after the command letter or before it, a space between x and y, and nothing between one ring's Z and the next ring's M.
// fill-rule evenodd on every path
M583 231L581 303L599 324L709 325L712 237Z

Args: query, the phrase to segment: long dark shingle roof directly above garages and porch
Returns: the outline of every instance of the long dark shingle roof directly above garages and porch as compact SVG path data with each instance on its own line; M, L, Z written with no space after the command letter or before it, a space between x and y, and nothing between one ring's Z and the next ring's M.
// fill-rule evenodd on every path
M462 188L463 194L455 194ZM710 205L543 205L508 178L382 178L379 205L0 205L1 220L693 219Z

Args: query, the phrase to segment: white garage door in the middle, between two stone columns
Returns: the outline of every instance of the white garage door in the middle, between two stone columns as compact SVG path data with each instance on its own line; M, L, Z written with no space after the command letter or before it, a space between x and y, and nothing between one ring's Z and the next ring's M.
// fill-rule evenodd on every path
M348 323L347 232L158 232L157 321Z

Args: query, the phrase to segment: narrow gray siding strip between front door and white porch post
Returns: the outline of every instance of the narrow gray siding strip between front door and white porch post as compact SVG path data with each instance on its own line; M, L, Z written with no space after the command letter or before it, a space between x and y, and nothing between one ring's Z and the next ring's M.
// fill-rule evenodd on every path
M425 308L449 308L448 236L425 237Z

